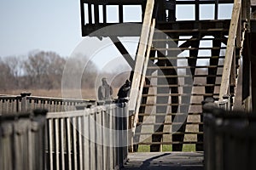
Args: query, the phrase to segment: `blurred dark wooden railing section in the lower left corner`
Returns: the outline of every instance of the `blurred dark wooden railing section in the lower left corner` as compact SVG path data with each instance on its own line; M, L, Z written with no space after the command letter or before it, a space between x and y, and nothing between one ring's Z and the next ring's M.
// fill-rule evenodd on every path
M46 111L0 116L0 169L44 170Z

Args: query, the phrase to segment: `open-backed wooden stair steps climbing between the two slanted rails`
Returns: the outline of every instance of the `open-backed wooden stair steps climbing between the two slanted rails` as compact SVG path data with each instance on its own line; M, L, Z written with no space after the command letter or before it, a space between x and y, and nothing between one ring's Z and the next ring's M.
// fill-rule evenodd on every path
M160 151L160 144L172 144L174 151L183 144L202 150L201 101L218 99L230 20L156 27L134 144L150 145L150 151Z

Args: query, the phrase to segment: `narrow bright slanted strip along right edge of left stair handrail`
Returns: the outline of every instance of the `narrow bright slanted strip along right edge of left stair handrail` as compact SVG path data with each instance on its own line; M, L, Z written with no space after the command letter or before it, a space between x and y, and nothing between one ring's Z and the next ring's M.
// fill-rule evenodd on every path
M133 126L131 128L131 131L133 133L135 133L135 128L137 127L136 125L137 125L138 113L139 113L139 109L140 109L140 103L142 100L143 86L144 86L144 82L145 82L146 71L148 68L148 58L149 58L149 54L150 54L150 50L151 50L151 46L152 46L153 35L154 35L154 26L155 26L155 20L152 21L151 28L150 28L150 35L148 37L148 49L147 49L147 54L146 54L144 64L143 64L142 81L141 81L139 93L138 93L137 108L135 111L135 118L134 118Z

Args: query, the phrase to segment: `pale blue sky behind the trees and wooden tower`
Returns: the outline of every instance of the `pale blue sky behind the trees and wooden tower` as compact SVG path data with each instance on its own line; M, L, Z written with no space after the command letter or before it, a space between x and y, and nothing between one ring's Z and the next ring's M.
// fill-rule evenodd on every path
M230 18L231 7L221 5L219 17ZM213 19L213 10L213 5L201 6L201 20ZM141 15L139 8L137 12L132 11L128 19L132 20L137 15ZM193 20L193 16L192 5L177 6L177 20ZM108 20L113 18L114 14ZM91 46L109 44L106 39L99 42L81 36L79 0L0 0L0 23L0 57L22 56L33 50L53 51L67 57L84 39ZM128 41L126 47L129 43L129 50L135 52L136 43ZM111 50L107 51L116 53Z

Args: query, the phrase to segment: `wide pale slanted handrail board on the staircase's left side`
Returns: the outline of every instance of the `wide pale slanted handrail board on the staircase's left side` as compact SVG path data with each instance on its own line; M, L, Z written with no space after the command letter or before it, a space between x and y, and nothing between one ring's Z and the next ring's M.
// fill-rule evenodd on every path
M153 9L154 9L154 0L148 0L147 7L145 10L145 17L143 20L143 28L142 28L141 38L139 42L139 47L138 47L134 75L132 78L131 94L130 94L131 100L129 102L129 111L135 111L135 108L137 105L137 97L138 97L137 94L139 90L138 89L139 83L141 82L141 74L143 71L144 55L146 53L147 45L148 45L148 37L149 37Z

